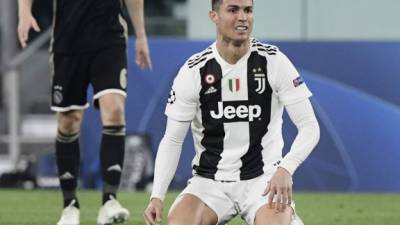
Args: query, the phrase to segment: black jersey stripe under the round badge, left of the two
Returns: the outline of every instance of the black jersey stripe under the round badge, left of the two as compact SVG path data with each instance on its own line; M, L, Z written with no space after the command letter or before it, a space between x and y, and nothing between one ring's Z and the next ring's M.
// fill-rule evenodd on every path
M221 160L225 137L223 119L214 119L210 115L210 111L216 111L218 109L218 102L222 101L221 66L215 59L211 59L200 69L200 75L202 86L200 91L200 109L204 127L204 137L201 140L201 144L206 150L200 156L199 165L194 165L193 169L203 177L214 179L218 162ZM210 76L214 78L213 83L210 83ZM206 93L211 87L215 88L216 91Z

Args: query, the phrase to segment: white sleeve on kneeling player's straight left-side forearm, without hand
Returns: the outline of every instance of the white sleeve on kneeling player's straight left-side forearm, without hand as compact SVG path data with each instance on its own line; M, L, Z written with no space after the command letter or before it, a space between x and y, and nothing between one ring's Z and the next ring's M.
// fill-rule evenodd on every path
M168 186L178 167L182 144L189 126L189 122L168 119L164 137L157 151L151 198L164 200Z

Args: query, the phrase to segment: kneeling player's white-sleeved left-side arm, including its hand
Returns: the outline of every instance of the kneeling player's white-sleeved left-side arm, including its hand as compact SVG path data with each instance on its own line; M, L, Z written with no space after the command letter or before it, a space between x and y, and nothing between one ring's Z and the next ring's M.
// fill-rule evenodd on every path
M164 137L158 146L151 200L143 215L147 225L161 221L164 197L175 175L189 126L190 122L168 118Z

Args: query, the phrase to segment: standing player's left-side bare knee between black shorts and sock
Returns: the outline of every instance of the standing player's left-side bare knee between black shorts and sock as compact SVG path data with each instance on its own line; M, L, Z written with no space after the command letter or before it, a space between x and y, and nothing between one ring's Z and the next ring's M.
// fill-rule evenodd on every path
M65 134L75 134L80 130L83 113L81 111L60 112L58 117L58 129Z

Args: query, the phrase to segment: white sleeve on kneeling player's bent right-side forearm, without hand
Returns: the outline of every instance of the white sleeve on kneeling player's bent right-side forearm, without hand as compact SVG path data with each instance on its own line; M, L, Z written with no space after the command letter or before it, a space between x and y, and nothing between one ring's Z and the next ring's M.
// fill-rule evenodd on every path
M305 102L287 106L286 110L296 125L298 133L289 153L283 158L280 167L283 167L293 175L318 143L320 130L308 99Z

